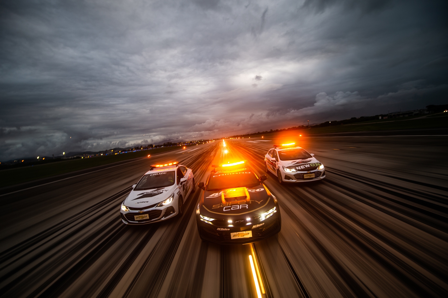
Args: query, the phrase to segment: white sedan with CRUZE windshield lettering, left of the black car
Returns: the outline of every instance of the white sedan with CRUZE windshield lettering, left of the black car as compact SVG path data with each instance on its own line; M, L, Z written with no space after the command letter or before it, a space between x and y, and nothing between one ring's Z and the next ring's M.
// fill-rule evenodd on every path
M195 191L193 171L177 162L151 165L132 188L121 204L121 220L126 225L163 221L183 213L186 198Z

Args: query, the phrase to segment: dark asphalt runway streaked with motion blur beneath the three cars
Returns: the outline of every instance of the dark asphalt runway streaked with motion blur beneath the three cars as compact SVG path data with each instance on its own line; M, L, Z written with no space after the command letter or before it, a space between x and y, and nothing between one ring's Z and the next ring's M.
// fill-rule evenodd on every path
M289 137L323 162L316 183L265 185L281 232L254 243L263 297L448 297L446 136ZM222 140L0 196L1 297L257 297L251 246L203 243L194 208L125 226L121 202L157 162L206 181L212 162L258 175L283 139ZM189 149L190 150L190 149Z

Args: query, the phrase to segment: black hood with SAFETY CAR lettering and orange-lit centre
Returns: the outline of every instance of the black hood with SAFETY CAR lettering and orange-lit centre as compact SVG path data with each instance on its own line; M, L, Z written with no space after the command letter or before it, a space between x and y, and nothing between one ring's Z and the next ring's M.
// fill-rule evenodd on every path
M229 215L263 213L275 206L273 198L263 185L237 187L222 191L205 191L200 204L200 214L212 218ZM270 207L270 208L269 208Z

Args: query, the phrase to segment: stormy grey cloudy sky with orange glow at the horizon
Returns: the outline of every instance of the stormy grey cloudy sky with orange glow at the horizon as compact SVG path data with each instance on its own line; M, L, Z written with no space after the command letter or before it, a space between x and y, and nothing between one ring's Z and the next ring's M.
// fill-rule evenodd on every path
M0 161L448 103L446 3L2 1Z

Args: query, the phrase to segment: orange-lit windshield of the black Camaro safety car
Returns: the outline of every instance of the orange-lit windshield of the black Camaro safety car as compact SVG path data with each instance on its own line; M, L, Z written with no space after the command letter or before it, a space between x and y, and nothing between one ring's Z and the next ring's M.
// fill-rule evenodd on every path
M254 187L260 181L250 169L236 169L231 171L217 171L211 174L208 180L207 190L221 190L232 187Z

